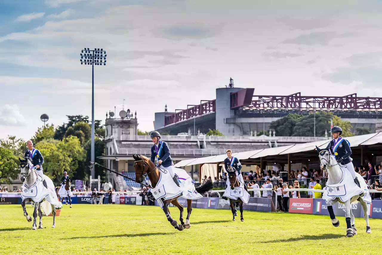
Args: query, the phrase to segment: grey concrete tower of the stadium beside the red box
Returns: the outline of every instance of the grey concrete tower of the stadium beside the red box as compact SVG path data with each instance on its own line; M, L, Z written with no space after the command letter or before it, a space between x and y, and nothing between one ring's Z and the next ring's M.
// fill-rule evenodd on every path
M231 110L231 93L243 88L216 89L216 129L225 136L241 136L241 129L236 124L225 123L226 118L233 118L235 111Z

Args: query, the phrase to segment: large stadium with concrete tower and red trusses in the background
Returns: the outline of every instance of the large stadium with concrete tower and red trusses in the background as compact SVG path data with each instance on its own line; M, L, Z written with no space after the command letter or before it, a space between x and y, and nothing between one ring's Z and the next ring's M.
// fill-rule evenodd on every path
M191 103L191 102L190 102ZM254 95L254 88L235 88L233 80L225 88L216 89L215 100L201 100L198 105L187 105L155 113L154 129L168 134L191 132L207 133L217 129L225 136L249 136L268 130L272 121L290 113L308 115L313 111L330 111L350 121L353 131L358 127L376 131L382 118L382 98L346 96L286 96ZM276 134L277 136L277 134Z

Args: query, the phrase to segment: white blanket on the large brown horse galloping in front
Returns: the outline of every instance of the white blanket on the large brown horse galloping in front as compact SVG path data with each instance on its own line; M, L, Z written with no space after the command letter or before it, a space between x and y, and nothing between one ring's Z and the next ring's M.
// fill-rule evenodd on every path
M179 179L180 187L178 187L172 179L170 173L168 173L166 170L164 170L165 173L163 173L162 169L163 168L160 168L159 170L160 177L157 185L155 188L151 188L151 193L155 200L158 201L161 208L163 208L161 198L167 200L176 198L179 195L186 199L199 199L203 197L195 190L194 182L185 170L181 168L173 168L174 173L178 176ZM150 180L149 185L151 186Z

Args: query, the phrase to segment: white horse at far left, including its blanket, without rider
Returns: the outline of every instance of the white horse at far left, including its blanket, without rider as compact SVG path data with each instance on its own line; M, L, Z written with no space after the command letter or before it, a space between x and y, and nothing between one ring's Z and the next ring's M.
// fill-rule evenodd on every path
M23 199L23 201L21 202L21 206L23 207L24 216L26 217L28 222L32 221L31 216L29 216L28 212L26 212L25 203L34 202L33 229L36 230L37 228L37 211L39 212L40 217L39 229L43 228L42 211L40 206L42 207L45 215L49 215L50 213L52 213L52 227L56 227L56 206L59 206L59 203L53 181L50 180L49 177L44 175L45 181L48 186L48 188L45 188L45 186L42 184L41 177L35 171L36 167L33 167L32 159L26 157L25 159L19 158L19 160L21 181L23 181L23 192L21 193L21 198Z

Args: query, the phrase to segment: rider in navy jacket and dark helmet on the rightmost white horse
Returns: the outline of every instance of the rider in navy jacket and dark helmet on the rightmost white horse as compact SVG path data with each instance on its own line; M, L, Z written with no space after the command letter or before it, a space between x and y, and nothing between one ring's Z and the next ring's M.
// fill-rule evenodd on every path
M353 162L351 162L350 144L341 136L342 128L334 126L330 132L332 133L333 140L329 142L326 149L330 151L330 154L335 156L335 159L341 168L346 168L351 173L354 182L361 188L361 185L356 178Z

